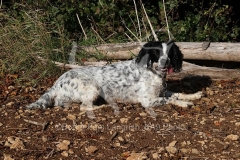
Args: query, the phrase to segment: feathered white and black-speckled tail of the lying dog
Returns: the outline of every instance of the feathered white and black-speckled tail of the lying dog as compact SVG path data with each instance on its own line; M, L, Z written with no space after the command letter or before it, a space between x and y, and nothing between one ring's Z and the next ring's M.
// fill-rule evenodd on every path
M44 93L36 102L26 106L27 109L46 109L53 105L53 94L52 90Z

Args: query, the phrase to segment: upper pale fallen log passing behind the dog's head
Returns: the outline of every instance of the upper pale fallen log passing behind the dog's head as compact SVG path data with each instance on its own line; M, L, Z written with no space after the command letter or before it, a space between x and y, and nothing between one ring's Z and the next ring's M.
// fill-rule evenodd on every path
M132 59L146 42L80 46L91 53L102 53L108 59ZM215 60L240 62L240 43L211 42L205 49L202 42L176 42L185 60Z

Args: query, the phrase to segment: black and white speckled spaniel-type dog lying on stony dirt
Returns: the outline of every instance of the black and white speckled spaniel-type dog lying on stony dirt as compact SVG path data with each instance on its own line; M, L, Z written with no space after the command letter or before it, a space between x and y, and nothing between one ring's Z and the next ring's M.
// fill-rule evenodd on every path
M92 107L98 97L104 98L115 114L119 112L116 102L141 103L152 116L155 113L151 107L168 103L187 107L193 105L189 100L201 98L202 93L166 92L166 74L179 72L182 61L183 55L173 41L148 42L133 60L64 73L52 88L27 108L82 103L81 107L88 108L87 115L94 118Z

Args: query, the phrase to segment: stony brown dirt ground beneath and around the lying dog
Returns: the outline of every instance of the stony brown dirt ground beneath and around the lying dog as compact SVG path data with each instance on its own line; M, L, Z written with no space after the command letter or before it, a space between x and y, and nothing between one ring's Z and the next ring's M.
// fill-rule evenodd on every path
M156 107L156 118L139 104L119 104L119 116L103 105L91 120L78 105L26 110L55 78L37 86L16 78L0 85L0 159L240 159L240 79L169 79L173 91L205 95L191 108Z

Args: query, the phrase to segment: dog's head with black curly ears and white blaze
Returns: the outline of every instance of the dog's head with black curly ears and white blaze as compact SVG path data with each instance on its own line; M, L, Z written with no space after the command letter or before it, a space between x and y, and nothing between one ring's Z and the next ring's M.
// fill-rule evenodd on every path
M180 72L182 69L183 54L173 41L148 42L140 50L136 63L140 66L152 68L158 74ZM153 67L153 63L157 63Z

